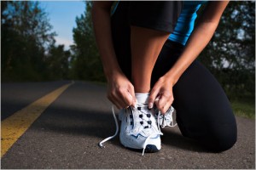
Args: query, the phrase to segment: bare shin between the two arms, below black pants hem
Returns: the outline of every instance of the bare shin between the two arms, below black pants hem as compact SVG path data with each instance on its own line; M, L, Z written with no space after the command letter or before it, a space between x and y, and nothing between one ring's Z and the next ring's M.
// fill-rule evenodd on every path
M151 74L169 33L131 26L131 81L135 92L150 91Z

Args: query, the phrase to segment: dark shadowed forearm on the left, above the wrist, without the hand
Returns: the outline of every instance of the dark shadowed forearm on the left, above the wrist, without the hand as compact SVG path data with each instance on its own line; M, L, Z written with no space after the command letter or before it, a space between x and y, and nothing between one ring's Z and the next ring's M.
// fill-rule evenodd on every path
M107 79L121 72L113 49L111 32L110 8L111 2L95 2L92 8L92 21L96 36L96 44L102 59L104 73Z

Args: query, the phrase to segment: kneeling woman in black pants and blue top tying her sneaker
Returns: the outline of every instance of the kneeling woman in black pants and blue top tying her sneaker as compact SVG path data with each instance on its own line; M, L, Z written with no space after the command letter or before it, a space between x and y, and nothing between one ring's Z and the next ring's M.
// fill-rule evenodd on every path
M236 143L236 119L217 80L196 60L207 46L229 2L95 2L96 42L108 79L108 99L120 110L120 142L146 152L160 150L154 105L171 105L183 136L208 150ZM175 99L175 100L174 100ZM143 151L144 151L143 150Z

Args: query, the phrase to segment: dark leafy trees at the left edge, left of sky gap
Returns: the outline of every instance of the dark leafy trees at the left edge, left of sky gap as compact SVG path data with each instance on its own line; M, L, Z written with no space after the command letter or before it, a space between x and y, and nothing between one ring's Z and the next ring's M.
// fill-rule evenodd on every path
M53 72L61 68L57 66L59 64L54 64L55 61L49 66L50 59L57 59L49 54L55 53L56 34L51 29L48 16L38 2L1 2L2 81L60 78L58 74L52 76ZM64 49L60 49L63 52ZM59 62L64 61L59 59ZM52 65L55 65L55 69Z

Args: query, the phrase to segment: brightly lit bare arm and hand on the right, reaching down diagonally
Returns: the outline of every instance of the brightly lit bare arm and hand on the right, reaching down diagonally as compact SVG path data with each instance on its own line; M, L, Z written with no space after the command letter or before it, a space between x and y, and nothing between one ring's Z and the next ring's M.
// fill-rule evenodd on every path
M179 77L181 77L183 72L207 46L207 43L211 40L212 35L218 26L224 8L226 8L228 3L228 1L209 2L199 23L189 37L189 41L183 50L183 54L177 59L176 64L172 66L171 70L163 77L160 77L160 80L156 82L154 88L152 88L149 103L153 104L154 99L156 99L157 96L160 96L160 100L155 104L163 113L168 109L168 107L165 106L166 103L168 103L169 106L172 105L169 101L170 99L173 100L172 87Z

